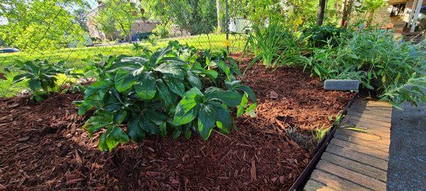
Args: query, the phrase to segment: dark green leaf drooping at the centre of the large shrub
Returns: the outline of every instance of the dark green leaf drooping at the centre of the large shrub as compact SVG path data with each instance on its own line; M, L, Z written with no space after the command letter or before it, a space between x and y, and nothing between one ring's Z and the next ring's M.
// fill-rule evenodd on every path
M134 84L135 91L143 100L151 100L157 91L155 78L151 72L144 72L140 81Z

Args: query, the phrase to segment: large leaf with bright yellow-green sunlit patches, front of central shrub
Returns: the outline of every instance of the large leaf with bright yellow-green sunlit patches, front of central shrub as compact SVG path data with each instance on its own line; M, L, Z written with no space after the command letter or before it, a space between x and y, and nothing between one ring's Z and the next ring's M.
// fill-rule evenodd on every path
M200 110L200 99L202 100L202 93L198 88L192 88L180 100L176 106L175 116L173 117L174 125L184 125L197 117L198 110Z

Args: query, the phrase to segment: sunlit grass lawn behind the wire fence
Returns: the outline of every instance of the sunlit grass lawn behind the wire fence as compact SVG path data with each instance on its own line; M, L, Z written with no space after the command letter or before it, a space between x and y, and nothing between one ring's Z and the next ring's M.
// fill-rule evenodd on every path
M142 41L139 43L146 47L150 47L152 50L155 50L158 47L165 47L166 45L168 45L169 40L178 40L181 44L192 45L200 49L221 50L226 48L226 45L229 44L229 50L234 52L241 51L244 47L243 35L229 35L229 41L226 41L226 37L224 34L174 37L158 40L156 42L156 45L151 45L151 43L146 41ZM68 66L78 68L82 64L82 59L87 59L96 54L136 54L136 52L134 52L131 47L133 47L133 45L125 43L119 45L104 45L95 47L64 48L61 50L44 52L15 52L9 54L0 54L0 72L5 73L7 78L7 80L0 79L0 97L14 96L16 95L16 93L26 88L25 83L12 83L13 76L17 74L16 72L6 73L4 71L4 69L7 66L13 64L16 59L23 61L34 59L47 59L50 62L58 62L60 60L65 60Z

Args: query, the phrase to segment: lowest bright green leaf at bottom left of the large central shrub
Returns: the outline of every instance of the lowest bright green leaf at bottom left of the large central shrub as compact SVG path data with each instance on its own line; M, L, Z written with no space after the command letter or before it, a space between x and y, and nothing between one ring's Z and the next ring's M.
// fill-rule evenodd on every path
M128 141L129 138L127 134L123 132L123 129L111 125L99 138L98 147L101 151L111 151L114 147L119 145L119 143L126 143Z

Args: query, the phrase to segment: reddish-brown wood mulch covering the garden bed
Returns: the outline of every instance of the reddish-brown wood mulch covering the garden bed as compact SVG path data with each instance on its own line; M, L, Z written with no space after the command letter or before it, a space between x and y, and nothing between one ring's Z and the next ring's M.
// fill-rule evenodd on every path
M244 68L249 59L240 59ZM81 129L80 94L0 98L0 190L288 190L310 149L285 129L310 134L353 93L324 91L301 69L253 66L244 79L258 97L257 117L236 119L207 141L151 136L102 153Z

